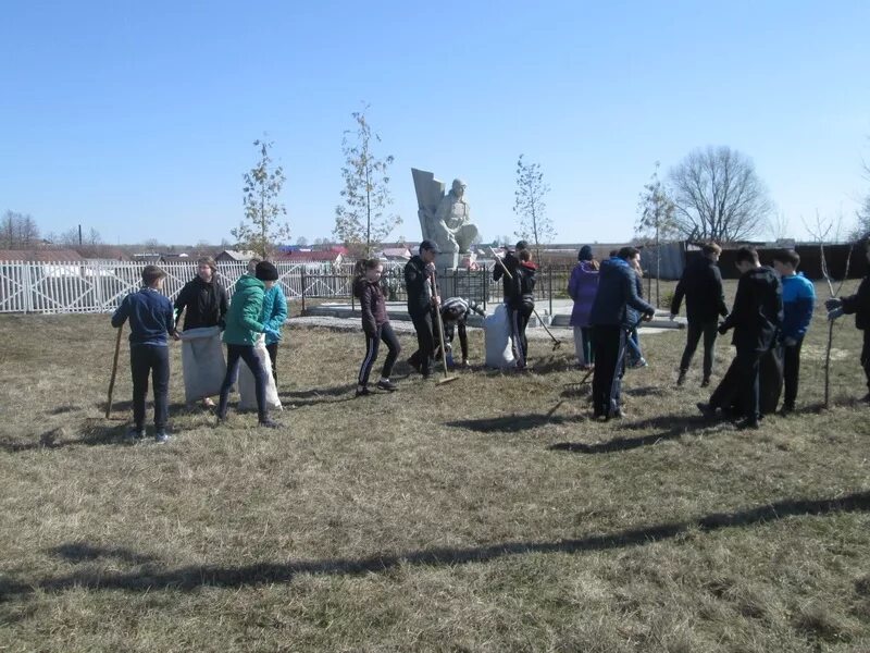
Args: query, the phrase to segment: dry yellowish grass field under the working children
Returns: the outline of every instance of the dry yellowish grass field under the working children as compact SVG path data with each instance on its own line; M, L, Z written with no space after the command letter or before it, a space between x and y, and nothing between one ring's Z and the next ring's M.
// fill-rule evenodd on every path
M175 344L175 438L127 445L108 316L2 316L0 651L870 651L860 338L821 410L822 320L757 432L700 418L699 354L674 386L684 332L605 423L570 346L357 399L362 336L290 328L281 430L187 409Z

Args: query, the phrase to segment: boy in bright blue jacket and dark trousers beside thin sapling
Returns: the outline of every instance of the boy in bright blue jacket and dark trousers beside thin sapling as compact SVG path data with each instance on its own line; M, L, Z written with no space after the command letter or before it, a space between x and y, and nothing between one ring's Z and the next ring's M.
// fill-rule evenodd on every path
M792 412L797 398L797 383L800 373L800 346L816 308L816 288L803 273L797 272L800 256L793 249L785 249L773 256L773 269L782 280L783 322L780 332L782 343L782 374L785 383L785 398L782 412Z

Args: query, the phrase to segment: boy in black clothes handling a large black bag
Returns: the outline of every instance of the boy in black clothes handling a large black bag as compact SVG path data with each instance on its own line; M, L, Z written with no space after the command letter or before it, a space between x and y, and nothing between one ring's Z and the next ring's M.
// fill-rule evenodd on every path
M745 417L737 424L741 429L757 429L759 409L759 369L761 357L775 344L783 321L782 283L779 275L758 262L758 252L751 247L741 247L734 261L741 272L734 307L719 326L724 335L734 329L732 344L736 356L732 366L737 372L737 389L744 394ZM722 384L720 383L720 386ZM726 409L730 404L723 397L730 392L713 392L708 404L698 404L705 415L717 408Z

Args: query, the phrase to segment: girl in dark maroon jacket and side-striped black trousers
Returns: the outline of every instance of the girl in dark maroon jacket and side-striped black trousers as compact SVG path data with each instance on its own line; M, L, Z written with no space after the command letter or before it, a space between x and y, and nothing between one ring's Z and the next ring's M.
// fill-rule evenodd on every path
M384 266L377 259L368 259L363 261L361 272L353 284L353 295L360 300L362 330L365 332L365 358L362 359L357 380L358 397L371 394L369 374L377 359L381 341L387 345L389 353L384 361L377 387L387 392L396 390L396 385L389 380L389 374L401 350L399 338L396 337L393 326L389 325L386 301L384 293L381 291L381 274L384 272Z

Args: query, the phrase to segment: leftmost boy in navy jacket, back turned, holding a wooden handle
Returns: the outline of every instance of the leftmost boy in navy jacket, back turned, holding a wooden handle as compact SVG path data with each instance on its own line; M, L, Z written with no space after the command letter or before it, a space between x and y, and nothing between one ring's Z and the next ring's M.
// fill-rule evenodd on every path
M166 273L157 266L142 270L145 287L124 297L112 316L112 326L119 328L129 320L129 369L133 377L132 435L145 438L145 396L148 394L148 375L154 387L154 440L169 442L166 420L170 385L170 353L166 334L178 340L172 304L160 294Z

